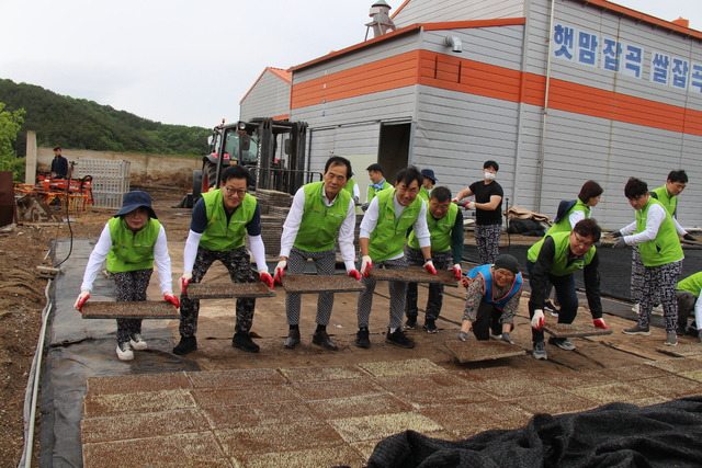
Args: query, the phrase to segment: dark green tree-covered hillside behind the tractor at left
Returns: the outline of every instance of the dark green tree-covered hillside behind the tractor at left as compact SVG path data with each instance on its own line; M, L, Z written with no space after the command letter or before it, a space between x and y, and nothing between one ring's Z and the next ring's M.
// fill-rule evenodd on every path
M26 130L35 130L37 145L44 147L191 156L206 151L212 134L208 128L161 124L8 79L0 79L0 103L8 112L25 111L13 145L18 157L25 156Z

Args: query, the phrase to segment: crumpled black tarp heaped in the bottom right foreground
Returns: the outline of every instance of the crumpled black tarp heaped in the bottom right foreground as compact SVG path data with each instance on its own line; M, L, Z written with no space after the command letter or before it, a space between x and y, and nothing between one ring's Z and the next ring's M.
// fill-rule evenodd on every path
M699 467L700 441L702 397L691 397L644 408L611 403L581 413L536 414L523 427L465 441L406 431L381 441L367 466Z

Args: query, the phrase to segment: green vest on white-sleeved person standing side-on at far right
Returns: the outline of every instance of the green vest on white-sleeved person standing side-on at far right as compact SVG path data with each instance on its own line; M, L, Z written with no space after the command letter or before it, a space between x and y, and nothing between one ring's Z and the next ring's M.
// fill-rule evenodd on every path
M648 197L646 206L636 210L636 233L646 230L646 218L652 205L661 205L665 208L663 203L653 196ZM638 253L644 266L665 265L684 259L670 213L667 209L665 212L666 219L660 224L656 238L638 244Z

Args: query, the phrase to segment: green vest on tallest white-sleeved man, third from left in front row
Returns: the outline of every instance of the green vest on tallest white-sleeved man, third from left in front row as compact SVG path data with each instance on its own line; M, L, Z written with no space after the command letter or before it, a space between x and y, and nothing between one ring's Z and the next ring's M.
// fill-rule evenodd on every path
M341 224L349 213L351 195L340 191L331 206L324 201L324 182L304 185L305 208L295 238L295 246L307 252L333 249Z

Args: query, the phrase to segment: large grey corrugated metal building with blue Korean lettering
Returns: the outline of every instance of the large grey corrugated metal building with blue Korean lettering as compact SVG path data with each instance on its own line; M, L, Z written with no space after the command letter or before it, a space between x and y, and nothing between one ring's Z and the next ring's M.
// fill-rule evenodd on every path
M510 205L553 216L593 179L615 228L633 219L629 176L655 189L682 168L678 219L702 225L701 32L604 0L408 0L393 22L291 69L310 170L346 156L364 185L371 162L388 178L412 163L455 193L495 159Z

